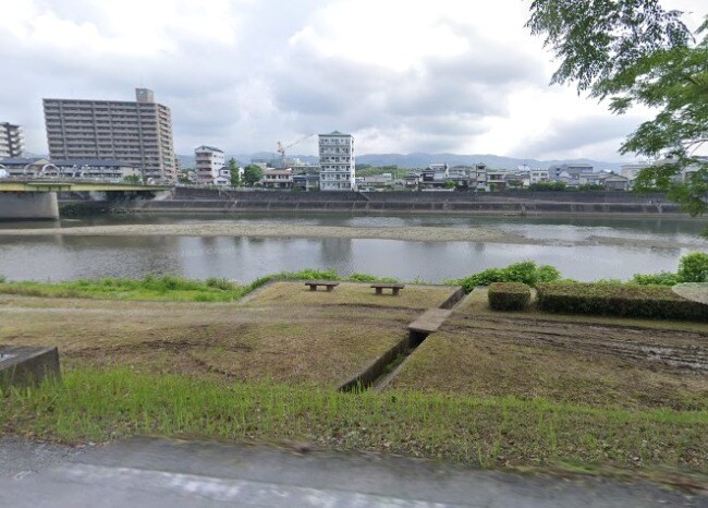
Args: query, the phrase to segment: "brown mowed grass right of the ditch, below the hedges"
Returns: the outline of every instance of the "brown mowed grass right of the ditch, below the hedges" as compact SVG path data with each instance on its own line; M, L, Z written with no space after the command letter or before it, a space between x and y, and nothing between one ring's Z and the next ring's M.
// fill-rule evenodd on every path
M388 389L480 398L540 397L596 408L708 410L704 373L459 328L428 336ZM706 445L708 451L708 440Z

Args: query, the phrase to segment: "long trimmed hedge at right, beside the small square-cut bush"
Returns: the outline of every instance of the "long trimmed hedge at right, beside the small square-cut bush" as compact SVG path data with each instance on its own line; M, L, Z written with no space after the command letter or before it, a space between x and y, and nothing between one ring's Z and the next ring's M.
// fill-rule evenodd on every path
M538 307L547 312L708 322L708 305L666 286L550 282L536 290Z

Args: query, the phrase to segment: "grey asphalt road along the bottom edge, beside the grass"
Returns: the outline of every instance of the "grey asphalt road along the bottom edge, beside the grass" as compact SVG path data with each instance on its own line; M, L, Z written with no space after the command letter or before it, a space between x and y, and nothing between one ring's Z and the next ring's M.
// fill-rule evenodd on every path
M7 446L0 440L0 449ZM708 507L708 497L646 483L476 471L379 455L143 438L61 453L44 470L39 462L34 473L0 474L0 506ZM0 455L3 462L9 457ZM8 468L3 462L0 471Z

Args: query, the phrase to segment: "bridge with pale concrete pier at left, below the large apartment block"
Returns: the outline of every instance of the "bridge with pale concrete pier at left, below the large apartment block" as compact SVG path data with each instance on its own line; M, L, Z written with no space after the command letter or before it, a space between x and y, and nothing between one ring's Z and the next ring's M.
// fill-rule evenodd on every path
M169 185L86 180L0 180L0 220L58 219L58 192L100 193L109 198L152 198Z

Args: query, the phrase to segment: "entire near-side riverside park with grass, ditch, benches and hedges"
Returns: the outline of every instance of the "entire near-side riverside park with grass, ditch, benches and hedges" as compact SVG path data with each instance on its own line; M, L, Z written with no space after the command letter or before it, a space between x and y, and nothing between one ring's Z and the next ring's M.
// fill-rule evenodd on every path
M0 428L71 447L270 444L703 492L708 305L672 288L707 257L624 283L533 262L439 285L332 270L248 286L5 281L2 350L57 347L61 374L5 386Z

